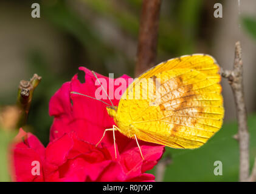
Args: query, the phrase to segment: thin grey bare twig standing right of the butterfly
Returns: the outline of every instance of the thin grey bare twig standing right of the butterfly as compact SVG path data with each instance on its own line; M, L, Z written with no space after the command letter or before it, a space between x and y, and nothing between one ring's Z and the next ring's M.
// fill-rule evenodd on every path
M238 135L240 149L240 181L247 181L249 177L249 132L247 127L247 112L244 102L243 89L243 61L241 59L240 42L235 44L234 69L221 70L221 76L227 78L232 88L238 120Z

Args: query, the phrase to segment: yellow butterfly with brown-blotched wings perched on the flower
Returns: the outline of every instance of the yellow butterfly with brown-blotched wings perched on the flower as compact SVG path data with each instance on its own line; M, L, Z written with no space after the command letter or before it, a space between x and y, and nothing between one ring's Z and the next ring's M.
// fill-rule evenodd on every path
M176 149L202 146L223 123L219 70L212 56L202 54L185 55L156 65L128 86L118 107L106 107L118 127L105 132L112 130L114 136L118 130L136 139L138 147L137 139ZM135 98L136 88L139 98ZM141 150L140 154L144 159Z

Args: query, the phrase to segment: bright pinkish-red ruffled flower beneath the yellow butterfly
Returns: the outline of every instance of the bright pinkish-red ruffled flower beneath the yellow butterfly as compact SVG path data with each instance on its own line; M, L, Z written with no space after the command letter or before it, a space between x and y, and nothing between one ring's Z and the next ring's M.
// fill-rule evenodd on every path
M106 132L98 147L95 144L102 138L105 129L116 125L106 112L106 104L95 98L96 78L85 67L80 67L85 75L81 83L75 75L66 82L50 99L49 114L54 116L50 129L50 143L44 148L30 133L20 130L18 139L24 142L13 146L13 179L15 181L154 181L154 176L145 173L152 169L164 152L164 146L139 141L144 160L140 156L136 141L116 134L117 158L114 152L112 132ZM116 79L97 74L106 79L108 94L119 91L119 85L112 87ZM128 76L121 78L127 80ZM109 84L110 82L110 84ZM128 85L126 85L127 87ZM124 92L124 91L122 91ZM111 104L108 98L102 99ZM119 99L112 99L118 105ZM33 161L40 163L40 175L32 175Z

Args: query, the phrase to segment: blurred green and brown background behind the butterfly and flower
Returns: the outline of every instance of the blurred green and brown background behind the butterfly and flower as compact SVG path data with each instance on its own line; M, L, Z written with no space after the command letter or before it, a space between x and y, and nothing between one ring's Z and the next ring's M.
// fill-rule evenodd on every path
M41 18L32 18L31 5L41 5ZM214 18L213 5L223 5L223 18ZM53 118L49 99L78 67L117 78L134 76L142 0L1 0L0 105L14 104L21 79L38 73L27 130L46 146ZM232 69L234 45L243 49L244 90L251 134L251 164L256 156L256 1L162 0L157 63L176 56L208 53L224 69ZM223 80L224 126L197 150L166 149L170 164L163 181L238 181L239 152L232 91ZM8 181L7 142L17 131L0 127L0 181ZM10 135L11 134L11 135ZM215 176L215 161L223 175ZM156 173L156 168L151 170ZM159 177L158 177L159 178Z

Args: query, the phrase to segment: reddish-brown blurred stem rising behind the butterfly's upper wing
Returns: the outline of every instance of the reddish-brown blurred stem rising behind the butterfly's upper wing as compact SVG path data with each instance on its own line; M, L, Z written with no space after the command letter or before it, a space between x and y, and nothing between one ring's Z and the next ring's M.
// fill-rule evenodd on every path
M161 0L143 1L137 46L136 76L148 70L156 62L160 7Z

